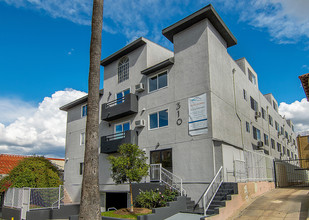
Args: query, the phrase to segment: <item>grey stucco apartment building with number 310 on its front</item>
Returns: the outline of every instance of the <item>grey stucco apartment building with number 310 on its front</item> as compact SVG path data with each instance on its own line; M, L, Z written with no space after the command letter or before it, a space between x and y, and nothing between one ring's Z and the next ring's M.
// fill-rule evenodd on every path
M101 61L103 210L112 200L128 199L128 185L112 181L106 159L122 143L139 145L150 164L161 163L181 177L195 201L221 166L224 180L236 181L234 163L244 161L247 151L298 158L293 123L279 115L272 94L259 91L257 73L248 61L228 54L236 38L211 5L162 32L174 52L141 37ZM68 113L65 187L78 202L87 96L61 109Z

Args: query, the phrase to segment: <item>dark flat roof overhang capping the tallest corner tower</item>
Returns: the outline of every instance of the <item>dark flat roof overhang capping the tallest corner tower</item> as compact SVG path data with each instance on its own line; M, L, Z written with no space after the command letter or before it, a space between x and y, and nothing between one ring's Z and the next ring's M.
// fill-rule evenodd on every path
M175 34L206 18L212 23L212 25L217 29L217 31L226 41L227 47L237 44L236 38L225 25L225 23L220 18L220 16L211 4L176 22L175 24L163 29L162 34L173 43L173 36Z

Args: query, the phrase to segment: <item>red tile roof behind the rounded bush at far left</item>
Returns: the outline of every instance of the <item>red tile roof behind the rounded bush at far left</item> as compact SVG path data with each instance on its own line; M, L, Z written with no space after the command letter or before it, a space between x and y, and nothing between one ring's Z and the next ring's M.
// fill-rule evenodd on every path
M12 155L12 154L0 154L0 174L9 174L9 172L18 165L18 163L29 156ZM62 160L58 158L46 158L48 160Z

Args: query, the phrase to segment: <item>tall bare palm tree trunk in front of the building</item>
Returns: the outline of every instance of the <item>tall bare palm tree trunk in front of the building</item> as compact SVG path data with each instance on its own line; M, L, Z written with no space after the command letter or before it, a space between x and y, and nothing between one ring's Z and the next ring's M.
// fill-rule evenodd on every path
M100 220L99 89L103 0L93 0L84 172L79 219Z

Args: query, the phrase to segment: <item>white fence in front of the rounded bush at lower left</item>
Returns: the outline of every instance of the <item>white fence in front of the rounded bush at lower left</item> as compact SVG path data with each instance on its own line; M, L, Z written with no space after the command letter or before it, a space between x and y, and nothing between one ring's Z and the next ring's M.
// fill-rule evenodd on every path
M23 210L60 208L64 188L9 188L3 205Z

